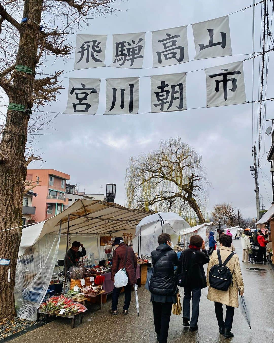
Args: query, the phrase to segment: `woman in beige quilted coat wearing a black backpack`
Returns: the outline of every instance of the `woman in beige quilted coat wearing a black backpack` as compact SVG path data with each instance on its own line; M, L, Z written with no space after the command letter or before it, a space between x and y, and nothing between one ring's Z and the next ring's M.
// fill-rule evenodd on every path
M222 262L231 254L232 249L232 237L228 235L221 235L220 241L220 253ZM214 264L219 264L217 251L214 250L207 270L207 285L208 285L208 299L214 301L215 314L219 325L219 331L224 334L225 338L233 337L231 332L234 308L238 307L238 290L240 294L244 294L244 282L242 280L242 273L240 268L240 262L238 255L233 255L232 258L227 262L226 266L232 273L232 284L229 286L227 291L219 291L219 289L210 287L209 285L209 271ZM225 322L223 318L223 305L226 305L226 316Z

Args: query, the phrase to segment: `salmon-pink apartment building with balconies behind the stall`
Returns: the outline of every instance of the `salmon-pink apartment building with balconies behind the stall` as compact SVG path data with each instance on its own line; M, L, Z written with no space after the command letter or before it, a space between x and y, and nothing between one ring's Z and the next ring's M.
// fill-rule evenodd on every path
M32 199L32 205L36 207L36 222L59 214L68 205L65 191L66 181L70 180L69 174L54 169L27 169L27 180L33 183L39 181L34 188L37 197Z

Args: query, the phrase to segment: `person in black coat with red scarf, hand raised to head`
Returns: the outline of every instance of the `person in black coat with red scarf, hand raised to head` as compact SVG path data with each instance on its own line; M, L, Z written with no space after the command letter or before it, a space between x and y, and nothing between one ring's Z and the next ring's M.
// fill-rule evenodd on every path
M189 331L198 330L199 304L201 289L207 287L206 274L203 264L209 262L209 256L204 246L201 236L190 237L188 249L185 249L180 256L180 263L176 274L181 274L182 270L187 271L187 286L184 287L183 301L183 326L189 326ZM200 251L202 249L202 251ZM192 313L190 320L190 300L192 293ZM188 322L190 320L190 323Z

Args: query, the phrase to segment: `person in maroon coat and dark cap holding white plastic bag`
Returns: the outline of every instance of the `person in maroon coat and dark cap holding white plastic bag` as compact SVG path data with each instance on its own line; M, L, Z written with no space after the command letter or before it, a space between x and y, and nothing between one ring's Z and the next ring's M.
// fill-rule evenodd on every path
M115 250L112 256L112 267L111 267L111 280L114 281L115 274L120 270L125 268L128 276L128 283L125 288L125 304L123 314L128 314L128 308L131 301L131 288L132 285L137 283L136 279L136 268L137 268L137 258L132 248L124 244L123 237L116 237L113 244ZM127 258L126 258L127 252ZM112 305L109 313L112 315L117 315L117 305L118 298L121 292L121 288L114 286L112 293Z

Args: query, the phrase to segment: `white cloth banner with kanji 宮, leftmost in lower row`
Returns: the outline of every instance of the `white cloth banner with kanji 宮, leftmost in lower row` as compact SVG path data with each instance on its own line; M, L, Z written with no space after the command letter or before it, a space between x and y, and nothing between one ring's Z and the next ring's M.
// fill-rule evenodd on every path
M98 109L101 79L70 78L64 113L95 114Z

